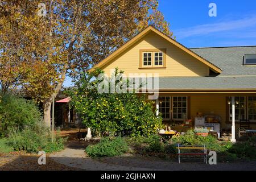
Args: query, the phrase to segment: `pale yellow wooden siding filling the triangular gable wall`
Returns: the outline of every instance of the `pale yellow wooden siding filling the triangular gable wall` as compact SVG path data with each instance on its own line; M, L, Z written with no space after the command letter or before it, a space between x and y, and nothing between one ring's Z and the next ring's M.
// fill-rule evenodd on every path
M140 49L167 49L166 67L167 68L148 68L139 69L139 50ZM133 47L113 59L102 69L110 76L110 70L118 67L129 73L158 73L159 77L176 76L208 76L209 67L195 59L180 48L167 42L159 35L151 32Z

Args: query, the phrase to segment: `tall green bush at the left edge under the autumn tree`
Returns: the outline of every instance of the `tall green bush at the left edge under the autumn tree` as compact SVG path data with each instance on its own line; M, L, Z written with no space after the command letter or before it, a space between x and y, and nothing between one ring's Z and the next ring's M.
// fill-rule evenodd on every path
M34 101L5 94L0 102L0 137L6 137L12 128L18 130L40 121L41 113Z

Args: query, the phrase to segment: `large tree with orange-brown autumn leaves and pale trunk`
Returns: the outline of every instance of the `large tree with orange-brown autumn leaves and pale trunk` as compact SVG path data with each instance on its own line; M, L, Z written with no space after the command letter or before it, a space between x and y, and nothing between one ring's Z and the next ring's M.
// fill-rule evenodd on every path
M77 78L148 24L172 36L157 10L156 0L3 0L1 19L18 27L22 44L19 56L24 89L43 102L44 121L50 125L52 98L67 75ZM131 8L133 7L133 8ZM2 21L0 21L2 22ZM0 24L5 30L7 25ZM15 31L11 32L15 35ZM7 36L7 35L3 35Z

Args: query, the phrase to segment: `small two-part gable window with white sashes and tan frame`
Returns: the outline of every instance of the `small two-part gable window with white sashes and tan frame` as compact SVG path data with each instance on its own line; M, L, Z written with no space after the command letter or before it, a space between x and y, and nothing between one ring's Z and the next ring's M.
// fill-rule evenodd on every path
M166 49L142 49L140 68L166 68Z

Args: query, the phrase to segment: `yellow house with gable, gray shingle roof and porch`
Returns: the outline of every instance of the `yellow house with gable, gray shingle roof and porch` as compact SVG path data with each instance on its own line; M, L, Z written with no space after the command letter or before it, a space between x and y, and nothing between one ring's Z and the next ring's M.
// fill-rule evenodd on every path
M116 67L125 74L158 75L155 105L166 123L192 119L193 127L219 134L230 129L232 141L240 119L256 129L256 46L187 48L149 26L90 71L111 75Z

